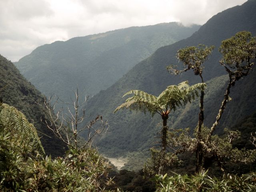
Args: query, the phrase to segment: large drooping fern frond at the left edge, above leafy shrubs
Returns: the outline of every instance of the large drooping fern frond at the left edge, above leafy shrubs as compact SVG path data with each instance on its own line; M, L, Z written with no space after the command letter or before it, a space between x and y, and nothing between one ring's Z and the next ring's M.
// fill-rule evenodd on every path
M36 128L16 108L0 104L0 124L4 127L4 132L10 133L11 139L18 144L21 152L36 150L44 153Z

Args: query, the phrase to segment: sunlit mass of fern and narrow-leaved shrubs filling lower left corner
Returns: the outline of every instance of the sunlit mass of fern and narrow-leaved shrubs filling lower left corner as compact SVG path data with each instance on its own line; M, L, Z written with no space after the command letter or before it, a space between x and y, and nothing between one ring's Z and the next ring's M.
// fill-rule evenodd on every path
M36 130L7 104L0 106L0 191L104 191L110 166L97 150L70 149L45 158Z

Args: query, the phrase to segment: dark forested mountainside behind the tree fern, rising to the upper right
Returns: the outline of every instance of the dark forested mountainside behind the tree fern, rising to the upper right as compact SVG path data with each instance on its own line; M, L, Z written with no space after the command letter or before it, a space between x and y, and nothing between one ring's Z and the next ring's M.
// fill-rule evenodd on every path
M148 152L156 133L160 130L156 126L161 122L157 114L151 119L150 114L129 112L128 110L113 114L114 109L124 102L122 95L128 90L139 89L150 94L158 95L168 85L178 84L188 80L190 84L200 82L198 76L192 71L182 74L182 76L172 76L166 71L166 66L181 63L176 60L176 52L186 46L196 46L198 44L214 45L215 49L210 56L210 60L205 63L204 80L208 82L208 92L206 92L205 104L205 125L211 126L214 122L224 96L226 80L223 76L226 71L219 64L221 58L218 52L222 40L230 38L236 32L248 30L252 35L256 35L256 0L249 0L241 6L229 8L213 16L191 37L176 42L169 46L164 46L156 50L154 54L134 66L120 80L110 88L96 94L87 104L88 112L96 112L107 118L112 124L111 133L102 137L98 141L99 150L107 156L126 156L137 153L140 156ZM219 78L218 78L219 77ZM215 79L213 79L215 78ZM232 101L224 111L224 116L220 121L217 132L225 126L232 126L245 116L248 116L256 109L254 101L255 92L252 86L255 83L255 69L248 77L240 80L230 95ZM241 92L241 90L243 90ZM208 94L208 95L207 95ZM197 108L194 108L196 106ZM188 105L185 110L177 110L170 114L169 125L173 127L194 128L199 113L198 102ZM132 160L135 162L135 160Z

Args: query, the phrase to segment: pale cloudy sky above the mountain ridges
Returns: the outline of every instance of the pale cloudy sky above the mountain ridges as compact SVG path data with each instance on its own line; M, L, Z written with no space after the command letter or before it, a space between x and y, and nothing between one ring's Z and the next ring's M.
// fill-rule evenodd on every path
M246 0L0 0L0 54L12 62L76 36L164 22L204 24Z

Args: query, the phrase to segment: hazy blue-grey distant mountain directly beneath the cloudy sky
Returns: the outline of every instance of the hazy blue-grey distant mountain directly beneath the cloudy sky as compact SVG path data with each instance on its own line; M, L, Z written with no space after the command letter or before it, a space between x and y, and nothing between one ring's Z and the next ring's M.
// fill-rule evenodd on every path
M40 46L14 64L44 94L69 100L76 86L96 94L157 48L187 38L199 27L171 22L76 37Z

